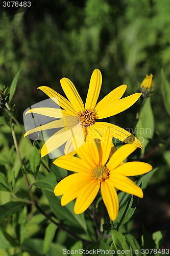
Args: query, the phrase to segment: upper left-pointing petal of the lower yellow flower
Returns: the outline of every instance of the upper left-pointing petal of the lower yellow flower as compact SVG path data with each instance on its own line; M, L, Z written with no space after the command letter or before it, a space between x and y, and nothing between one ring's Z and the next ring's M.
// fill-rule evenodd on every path
M71 172L90 173L89 165L78 157L68 158L67 156L61 156L53 163L63 169L71 170Z

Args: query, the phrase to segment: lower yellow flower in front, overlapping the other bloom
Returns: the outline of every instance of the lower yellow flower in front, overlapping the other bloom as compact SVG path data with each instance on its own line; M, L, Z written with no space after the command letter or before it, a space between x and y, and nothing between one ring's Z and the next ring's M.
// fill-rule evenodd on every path
M80 158L68 159L61 156L56 159L54 164L57 166L76 172L61 180L54 189L56 196L62 195L61 205L76 199L74 212L81 214L91 205L101 189L109 217L112 221L115 220L118 214L115 188L142 198L142 189L127 176L145 174L152 169L148 163L123 163L136 148L134 144L126 144L116 151L108 129L101 139L99 151L94 141L85 142L77 150Z

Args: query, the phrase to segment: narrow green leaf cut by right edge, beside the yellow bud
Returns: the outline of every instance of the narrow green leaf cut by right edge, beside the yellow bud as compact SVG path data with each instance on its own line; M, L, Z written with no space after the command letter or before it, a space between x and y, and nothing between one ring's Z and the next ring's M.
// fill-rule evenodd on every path
M163 69L161 70L161 89L163 103L167 114L170 116L170 83L166 80Z

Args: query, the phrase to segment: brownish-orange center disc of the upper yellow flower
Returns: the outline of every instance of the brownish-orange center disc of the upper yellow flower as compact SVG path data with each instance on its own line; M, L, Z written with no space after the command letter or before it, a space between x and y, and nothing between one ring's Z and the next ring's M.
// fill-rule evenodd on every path
M88 127L95 123L95 119L98 119L97 113L95 110L87 109L78 113L78 117L80 118L79 123L84 127Z

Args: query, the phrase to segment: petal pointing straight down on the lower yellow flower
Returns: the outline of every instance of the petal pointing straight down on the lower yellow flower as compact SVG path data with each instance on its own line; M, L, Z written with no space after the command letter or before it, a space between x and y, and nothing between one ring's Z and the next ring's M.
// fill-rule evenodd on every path
M118 197L113 182L110 179L101 183L101 193L109 217L114 221L118 214Z

